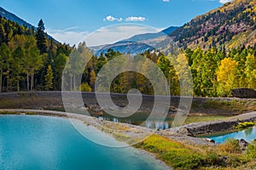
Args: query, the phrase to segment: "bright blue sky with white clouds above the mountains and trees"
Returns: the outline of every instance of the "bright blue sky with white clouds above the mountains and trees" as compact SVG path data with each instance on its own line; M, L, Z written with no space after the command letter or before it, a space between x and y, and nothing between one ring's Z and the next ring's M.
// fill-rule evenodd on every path
M229 0L1 0L0 6L34 26L37 26L38 20L43 19L50 35L61 42L75 43L90 32L116 24L140 24L136 26L138 31L125 27L132 30L131 35L125 34L126 37L148 31L142 29L143 26L152 26L154 31L169 26L183 26L196 15L205 14L227 1ZM97 44L95 42L91 45Z

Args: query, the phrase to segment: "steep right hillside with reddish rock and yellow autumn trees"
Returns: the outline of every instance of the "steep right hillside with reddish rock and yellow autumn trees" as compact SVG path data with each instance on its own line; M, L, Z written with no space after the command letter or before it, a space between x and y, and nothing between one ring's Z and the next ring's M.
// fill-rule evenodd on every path
M169 34L179 47L204 49L212 47L255 47L256 1L235 0L225 3L207 14ZM167 41L167 40L165 40Z

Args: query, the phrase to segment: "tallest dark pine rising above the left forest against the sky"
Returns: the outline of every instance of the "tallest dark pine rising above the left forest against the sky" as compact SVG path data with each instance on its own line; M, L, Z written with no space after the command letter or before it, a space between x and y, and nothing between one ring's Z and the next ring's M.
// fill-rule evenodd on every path
M37 45L38 45L38 49L40 50L40 54L44 54L47 51L46 34L44 30L45 30L44 22L41 19L38 23L38 29L36 33Z

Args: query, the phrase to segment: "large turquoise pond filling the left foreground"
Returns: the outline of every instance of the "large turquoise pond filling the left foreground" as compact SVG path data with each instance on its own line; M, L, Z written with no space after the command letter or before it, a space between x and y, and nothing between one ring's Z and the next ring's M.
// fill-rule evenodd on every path
M105 137L108 139L102 133L102 138ZM0 169L150 170L166 167L141 150L95 144L64 118L0 116Z

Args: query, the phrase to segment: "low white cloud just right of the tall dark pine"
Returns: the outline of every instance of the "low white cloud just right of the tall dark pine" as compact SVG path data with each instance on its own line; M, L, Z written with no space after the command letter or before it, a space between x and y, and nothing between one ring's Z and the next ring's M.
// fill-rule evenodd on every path
M55 40L62 43L69 43L70 45L77 45L79 42L82 42L84 37L89 35L89 31L74 31L77 26L66 28L63 30L47 30L48 34L51 37L54 37Z

